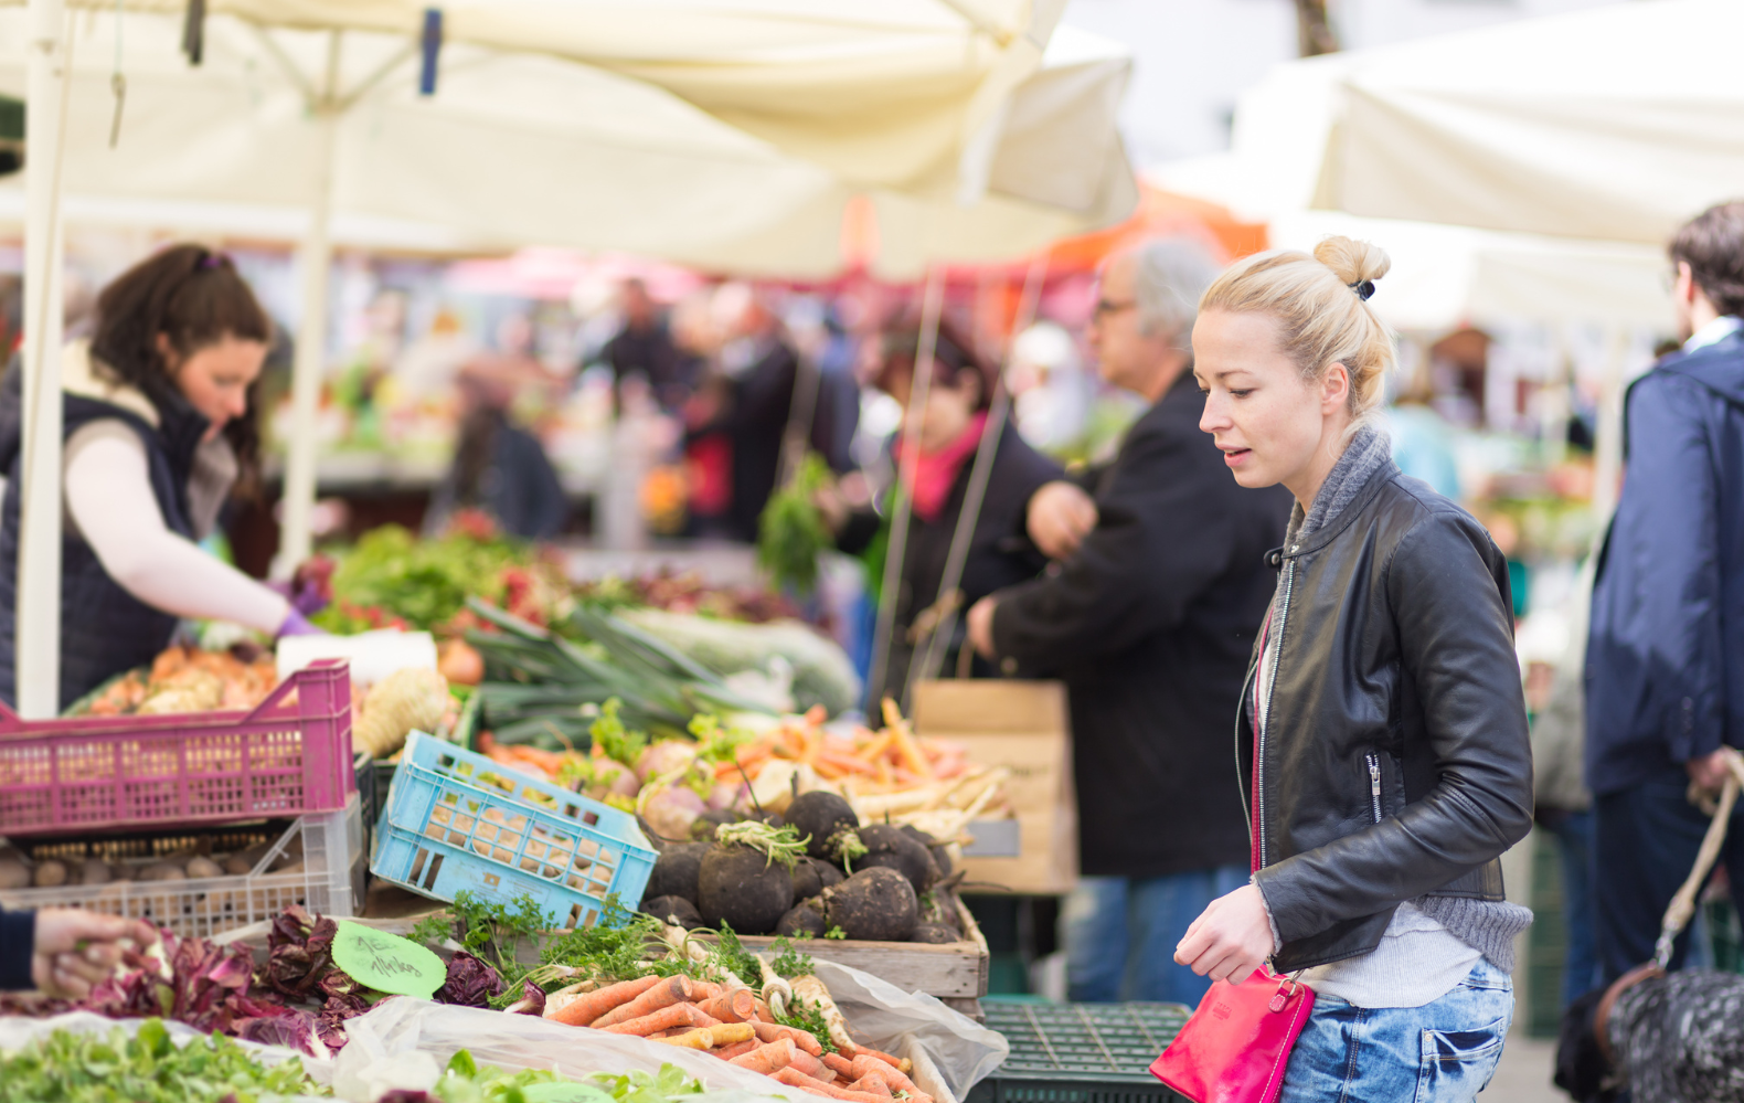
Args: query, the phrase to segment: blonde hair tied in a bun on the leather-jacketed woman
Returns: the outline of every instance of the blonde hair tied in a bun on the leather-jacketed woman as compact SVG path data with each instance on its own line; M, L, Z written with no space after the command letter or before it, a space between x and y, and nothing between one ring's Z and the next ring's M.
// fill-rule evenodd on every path
M1256 253L1205 288L1200 312L1270 314L1284 330L1284 354L1306 379L1345 365L1350 414L1360 422L1380 408L1397 361L1392 333L1367 304L1374 281L1390 267L1385 251L1350 237L1325 237L1311 257L1296 250Z

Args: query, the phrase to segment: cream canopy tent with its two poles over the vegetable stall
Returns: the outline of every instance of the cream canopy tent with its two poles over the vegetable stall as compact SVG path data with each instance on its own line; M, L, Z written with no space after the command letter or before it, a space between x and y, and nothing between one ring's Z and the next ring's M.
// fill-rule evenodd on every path
M30 86L28 272L59 267L63 194L305 208L300 426L319 391L340 209L499 246L821 274L839 260L844 206L870 194L888 250L877 267L896 274L1034 250L1118 220L1135 197L1113 120L1130 61L1067 35L1043 66L1050 2L467 3L445 12L433 96L413 87L422 5L218 0L195 70L176 52L181 3L124 16L92 3L70 38L59 9L0 12L0 91ZM45 84L52 61L37 59L68 52L61 98ZM45 354L59 344L45 323L58 293L49 279L28 279L26 293L26 326L42 335L26 346L28 419L44 419L54 403L40 396L59 393ZM56 593L59 429L26 443L26 513L45 520L26 518L38 536L21 574ZM307 553L314 459L312 435L298 433L286 567ZM56 618L21 609L21 665L35 656L19 675L28 712L54 698Z

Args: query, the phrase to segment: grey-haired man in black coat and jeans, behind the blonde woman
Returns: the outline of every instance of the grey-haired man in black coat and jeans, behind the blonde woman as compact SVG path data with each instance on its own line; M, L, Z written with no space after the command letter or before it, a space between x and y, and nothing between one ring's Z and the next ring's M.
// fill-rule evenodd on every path
M1111 464L1029 501L1029 534L1059 569L970 611L970 639L1003 674L1067 686L1083 876L1062 925L1080 1002L1196 1005L1210 983L1174 962L1175 942L1247 883L1230 716L1291 496L1238 487L1198 428L1188 342L1216 276L1188 239L1104 264L1090 347L1151 408Z

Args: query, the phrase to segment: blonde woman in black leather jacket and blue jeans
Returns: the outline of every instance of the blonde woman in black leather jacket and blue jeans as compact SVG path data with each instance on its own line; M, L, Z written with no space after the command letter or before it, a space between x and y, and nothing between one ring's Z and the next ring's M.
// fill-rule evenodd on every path
M1386 267L1345 237L1249 257L1193 328L1200 428L1296 508L1236 721L1254 876L1175 958L1235 983L1270 958L1315 990L1282 1103L1474 1098L1531 923L1496 860L1531 827L1507 565L1371 424Z

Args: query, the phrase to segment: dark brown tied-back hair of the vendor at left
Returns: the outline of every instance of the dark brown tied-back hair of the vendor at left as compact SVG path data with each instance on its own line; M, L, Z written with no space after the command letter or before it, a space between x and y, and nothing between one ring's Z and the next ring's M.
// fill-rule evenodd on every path
M133 265L98 295L91 354L122 382L162 403L174 393L157 335L178 356L192 356L225 337L272 344L272 318L235 264L199 244L174 244ZM230 419L225 436L235 450L239 496L260 489L260 412L249 389L246 417Z

